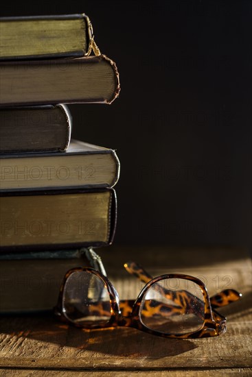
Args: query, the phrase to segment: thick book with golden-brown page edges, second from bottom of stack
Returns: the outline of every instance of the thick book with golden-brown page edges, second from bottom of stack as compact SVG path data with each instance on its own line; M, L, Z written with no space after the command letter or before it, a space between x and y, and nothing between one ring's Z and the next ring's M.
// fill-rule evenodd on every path
M0 252L109 245L116 214L114 189L0 192Z

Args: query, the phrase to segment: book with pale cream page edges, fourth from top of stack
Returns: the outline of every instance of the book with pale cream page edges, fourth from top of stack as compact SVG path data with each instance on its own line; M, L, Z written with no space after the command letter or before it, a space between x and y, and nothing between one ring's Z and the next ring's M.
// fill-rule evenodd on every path
M115 150L72 139L65 152L1 154L0 189L112 187L119 168Z

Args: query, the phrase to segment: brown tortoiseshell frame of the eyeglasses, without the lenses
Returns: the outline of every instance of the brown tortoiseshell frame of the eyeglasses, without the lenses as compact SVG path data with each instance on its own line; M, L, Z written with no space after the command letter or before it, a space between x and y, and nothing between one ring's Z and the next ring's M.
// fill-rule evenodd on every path
M69 324L73 324L74 326L81 327L81 328L89 328L89 329L98 329L98 328L109 328L109 327L117 327L117 326L127 326L131 328L135 328L137 330L141 330L144 332L148 332L152 335L157 335L159 337L167 337L167 338L203 338L203 337L214 337L216 335L221 335L226 331L226 318L220 315L215 311L216 307L225 306L230 304L231 302L235 302L240 299L241 294L235 291L234 289L226 289L225 291L221 291L220 293L214 295L213 297L209 298L207 293L207 288L205 284L199 280L198 278L194 278L194 276L185 275L182 273L168 273L165 275L158 276L157 278L152 278L140 265L137 265L135 262L128 262L124 265L126 270L129 273L137 276L141 281L146 282L145 287L141 290L136 300L121 300L119 302L119 297L117 291L113 287L113 284L104 276L100 271L96 271L91 267L76 267L70 269L65 274L65 278L63 279L62 285L60 287L60 294L58 296L58 304L54 308L55 315ZM104 284L104 288L108 291L109 299L110 299L110 311L107 311L107 302L99 302L97 304L93 304L94 311L106 311L106 315L110 317L110 319L105 322L104 324L80 324L77 321L73 321L67 317L65 311L63 310L63 294L65 289L65 284L69 276L71 276L74 272L81 272L87 271L89 273L93 273L97 276ZM165 295L168 299L172 299L174 301L174 306L169 305L169 310L174 311L174 313L178 310L180 313L183 311L190 311L190 308L194 308L197 302L203 303L200 299L192 295L192 293L179 290L179 291L170 291L169 289L165 289L162 285L157 284L164 279L185 279L190 280L198 284L198 287L201 288L201 292L204 297L204 317L202 317L203 324L199 330L194 332L188 333L166 333L166 332L159 332L157 330L153 330L148 328L142 321L141 321L141 303L146 295L146 291L152 287L153 284L156 284L156 289L158 287L159 293ZM147 300L148 301L148 300ZM194 306L193 306L194 305ZM165 304L159 303L160 309L163 306L167 306ZM157 307L155 307L155 311L157 312ZM151 311L150 314L152 315ZM198 315L202 315L198 312Z

